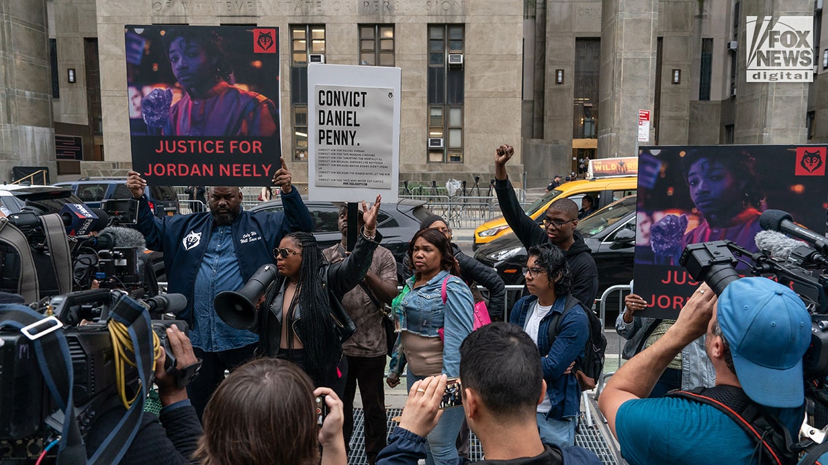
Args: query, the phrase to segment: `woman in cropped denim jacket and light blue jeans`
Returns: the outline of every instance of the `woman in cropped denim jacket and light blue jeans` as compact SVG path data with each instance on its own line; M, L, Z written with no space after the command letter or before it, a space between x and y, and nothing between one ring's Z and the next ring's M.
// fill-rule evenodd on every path
M415 381L426 376L460 376L460 343L472 331L474 302L469 286L457 277L457 261L442 232L418 231L408 243L408 259L415 272L392 302L398 335L387 382L388 386L397 386L403 368L408 365L406 381L410 391ZM457 463L455 439L463 419L463 409L443 412L436 428L427 436L428 465Z

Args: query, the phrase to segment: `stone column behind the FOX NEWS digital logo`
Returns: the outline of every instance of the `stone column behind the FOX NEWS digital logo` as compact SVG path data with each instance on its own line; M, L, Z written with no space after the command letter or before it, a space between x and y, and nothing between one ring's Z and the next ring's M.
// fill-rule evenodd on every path
M739 13L739 55L736 58L738 84L734 143L802 144L807 141L807 83L747 82L748 41L745 17L811 16L813 12L814 2L806 0L742 2L742 11ZM815 57L814 60L819 59Z

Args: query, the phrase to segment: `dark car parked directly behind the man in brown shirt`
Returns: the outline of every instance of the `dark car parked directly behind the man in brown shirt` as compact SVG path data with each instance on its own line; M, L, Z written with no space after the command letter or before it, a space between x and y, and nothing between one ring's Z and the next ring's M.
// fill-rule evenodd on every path
M320 247L330 247L342 240L337 226L338 207L331 202L306 200L310 216L314 220L313 234ZM420 229L420 222L431 215L431 210L422 200L401 199L397 204L383 204L377 216L377 228L383 234L383 247L388 248L397 260L397 270L401 270L402 260L408 251L408 241ZM282 200L273 200L258 204L251 212L282 211Z

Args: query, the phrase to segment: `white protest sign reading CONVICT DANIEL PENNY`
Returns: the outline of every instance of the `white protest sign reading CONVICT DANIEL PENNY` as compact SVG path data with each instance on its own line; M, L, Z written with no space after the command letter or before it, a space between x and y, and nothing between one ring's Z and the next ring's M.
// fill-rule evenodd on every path
M399 68L308 65L308 198L397 203Z

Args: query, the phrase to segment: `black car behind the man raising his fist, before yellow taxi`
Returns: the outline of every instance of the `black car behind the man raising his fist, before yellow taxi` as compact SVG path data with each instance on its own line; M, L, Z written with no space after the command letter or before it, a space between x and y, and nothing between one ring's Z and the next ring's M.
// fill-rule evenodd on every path
M598 296L609 286L626 285L633 279L635 212L636 196L629 195L580 220L575 228L592 249L592 257L598 266ZM497 270L504 284L523 285L526 282L522 268L526 266L527 252L514 234L480 247L474 258Z

